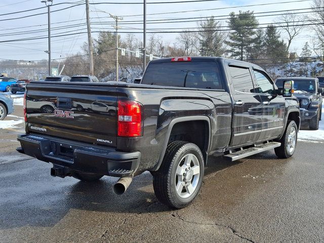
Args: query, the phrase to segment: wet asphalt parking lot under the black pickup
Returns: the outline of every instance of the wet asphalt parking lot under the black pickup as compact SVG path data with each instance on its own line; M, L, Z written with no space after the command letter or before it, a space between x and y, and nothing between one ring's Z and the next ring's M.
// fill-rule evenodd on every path
M16 105L6 118L16 125L0 129L0 242L323 241L324 140L300 140L286 160L210 156L197 199L173 211L155 198L150 173L121 196L117 178L51 177L50 164L15 151L22 116Z

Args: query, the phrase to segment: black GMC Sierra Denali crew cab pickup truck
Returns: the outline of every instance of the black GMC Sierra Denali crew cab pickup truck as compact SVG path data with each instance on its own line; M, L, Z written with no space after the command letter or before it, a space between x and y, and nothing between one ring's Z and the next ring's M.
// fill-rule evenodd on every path
M117 194L150 171L157 198L183 208L199 192L208 155L293 155L299 103L294 83L282 83L278 90L257 65L212 57L151 61L141 84L32 82L17 150L53 163L52 176L120 177Z

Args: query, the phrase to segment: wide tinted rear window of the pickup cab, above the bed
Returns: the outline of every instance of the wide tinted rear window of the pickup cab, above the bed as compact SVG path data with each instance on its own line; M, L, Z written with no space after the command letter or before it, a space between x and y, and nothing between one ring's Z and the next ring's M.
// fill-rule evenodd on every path
M143 76L142 84L223 89L216 62L151 63Z

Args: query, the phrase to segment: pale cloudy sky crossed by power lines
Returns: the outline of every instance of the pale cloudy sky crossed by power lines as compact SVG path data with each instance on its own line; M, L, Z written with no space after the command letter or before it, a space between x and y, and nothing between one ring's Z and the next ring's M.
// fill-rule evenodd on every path
M172 2L179 2L181 0L176 0ZM189 0L190 1L190 0ZM75 54L80 51L80 46L87 41L86 32L86 7L85 4L82 4L77 7L70 9L56 11L59 9L70 7L72 4L66 3L78 3L84 2L80 0L53 0L53 5L60 4L51 7L51 29L52 36L62 35L64 33L69 33L68 31L74 30L75 34L69 36L60 36L52 37L52 59L64 58L68 55ZM91 3L139 3L141 0L89 0ZM208 17L215 16L215 18L225 18L218 17L228 15L230 12L237 13L239 10L247 11L251 10L255 13L256 16L266 15L262 12L268 11L283 11L283 10L296 10L295 12L306 12L310 10L300 10L305 8L310 8L312 1L304 2L294 2L287 4L280 4L280 2L293 2L292 0L266 0L266 1L251 1L251 0L241 0L241 1L210 1L210 2L198 2L198 3L172 3L172 4L151 4L154 2L171 2L171 0L147 0L147 20L158 20L158 19L172 19L172 18L193 18L193 17ZM240 7L237 6L246 6L246 5L256 5L264 3L277 3L273 5L266 6L254 6L254 7ZM41 0L1 0L0 1L0 59L12 59L12 60L42 60L48 59L48 54L45 51L48 50L48 39L34 39L23 42L5 42L14 39L21 38L35 38L35 37L47 37L47 8L27 11L24 13L18 14L9 14L18 11L26 11L35 8L44 7L45 4L41 3ZM196 12L187 12L187 13L172 13L166 14L168 12L179 12L179 11L190 11L190 10L203 10L203 9L216 9L216 8L229 8L229 9L219 9L219 10L206 10L206 11L196 11ZM299 10L299 11L298 11ZM56 12L54 12L56 11ZM109 17L108 13L112 13L117 16L125 16L123 21L142 21L143 16L127 16L127 15L142 15L143 14L143 5L142 4L98 4L90 5L90 18L92 24L92 31L108 30L114 31L112 29L112 23L103 23L103 22L112 22L113 19ZM42 15L37 15L28 18L16 19L18 17L23 17L26 15L44 13ZM164 14L158 14L164 13ZM273 13L274 14L274 13ZM303 15L303 14L300 14ZM13 18L12 20L5 20ZM267 16L267 17L257 17L259 23L275 23L279 22L278 16ZM58 23L67 21L65 23ZM226 20L221 20L222 25L226 25ZM84 24L80 27L72 27L74 24ZM34 27L28 27L34 26ZM142 24L123 24L124 30L120 29L119 31L142 31ZM149 29L156 28L188 28L196 27L196 22L182 22L182 23L163 23L163 24L147 24L147 31ZM54 28L54 29L53 29ZM59 28L56 29L55 28ZM131 28L131 29L130 29ZM139 28L139 29L138 29ZM40 30L41 32L37 33L19 33L22 31L29 30ZM181 29L179 29L181 30ZM282 31L282 37L286 37L284 31ZM78 34L79 33L79 34ZM305 42L309 41L311 31L309 29L303 29L301 34L293 41L291 45L291 52L297 51L300 54L302 47ZM93 33L92 37L96 38L98 33ZM123 39L126 36L126 33L121 33L121 38ZM149 37L147 34L147 38ZM170 43L171 45L176 42L177 33L159 33L159 36L163 37L164 42ZM136 34L137 38L142 41L143 34Z

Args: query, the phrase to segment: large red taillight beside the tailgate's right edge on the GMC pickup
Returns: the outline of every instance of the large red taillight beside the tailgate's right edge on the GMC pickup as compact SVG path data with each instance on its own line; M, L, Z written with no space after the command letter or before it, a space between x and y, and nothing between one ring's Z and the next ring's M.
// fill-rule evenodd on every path
M117 131L120 137L142 136L142 105L134 100L118 100Z

